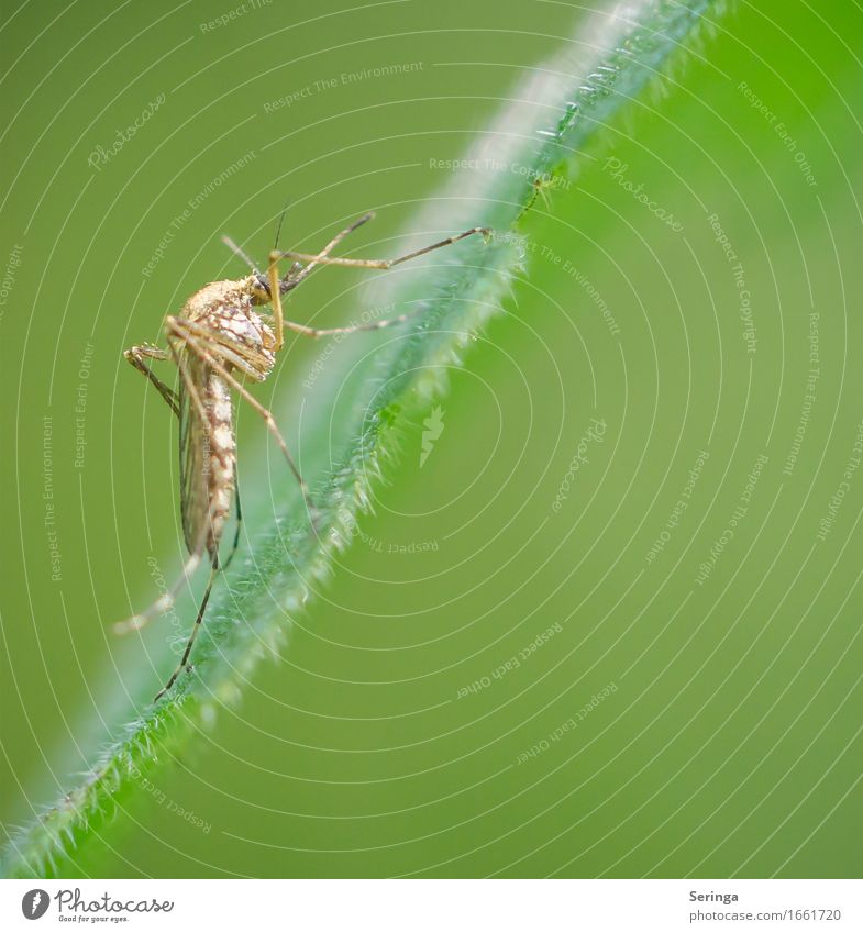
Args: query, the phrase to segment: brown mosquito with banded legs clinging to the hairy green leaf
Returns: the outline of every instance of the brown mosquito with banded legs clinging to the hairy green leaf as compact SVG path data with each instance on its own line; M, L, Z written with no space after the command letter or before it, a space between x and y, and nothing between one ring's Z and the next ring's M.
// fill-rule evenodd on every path
M180 513L189 557L176 582L144 612L117 623L115 631L135 631L170 609L182 585L204 558L210 564L207 589L180 663L165 687L156 695L154 702L174 686L189 666L189 655L203 620L213 581L217 574L231 563L240 542L242 510L237 490L232 391L264 419L300 485L314 524L317 509L309 487L300 475L272 413L246 389L244 380L263 382L269 376L276 364L276 356L284 347L286 330L308 337L327 337L356 331L380 330L410 316L402 314L385 321L347 327L309 327L285 319L283 298L308 278L318 266L389 269L467 236L480 234L487 238L491 233L487 227L472 227L395 259L354 259L330 255L345 236L373 218L372 212L364 214L336 234L319 253L313 254L279 252L277 232L276 246L269 254L266 275L255 267L230 237L223 237L228 246L250 265L252 274L241 279L210 282L189 298L178 315L168 315L165 319L167 349L152 344L139 344L123 353L132 366L155 386L179 421ZM281 221L279 229L280 226ZM283 259L291 259L292 265L285 277L280 278L278 264ZM272 304L272 314L258 310L266 304ZM150 365L152 360L167 360L176 366L179 374L176 391L156 376ZM236 507L236 531L228 557L222 560L220 544L232 506Z

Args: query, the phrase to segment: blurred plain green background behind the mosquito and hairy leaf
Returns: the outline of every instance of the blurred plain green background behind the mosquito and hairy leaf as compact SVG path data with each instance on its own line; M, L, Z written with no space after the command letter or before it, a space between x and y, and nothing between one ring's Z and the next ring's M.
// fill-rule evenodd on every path
M109 631L154 596L147 558L182 554L175 425L122 349L243 273L222 232L263 262L286 201L285 242L374 208L355 248L391 251L446 180L430 159L583 12L1 9L9 831L169 665ZM403 424L281 662L59 876L860 875L862 37L843 0L735 5L538 201L529 274L451 374L428 459ZM355 318L362 279L320 275L294 316ZM294 346L257 395L296 408L320 352ZM292 493L256 419L240 434L254 549Z

